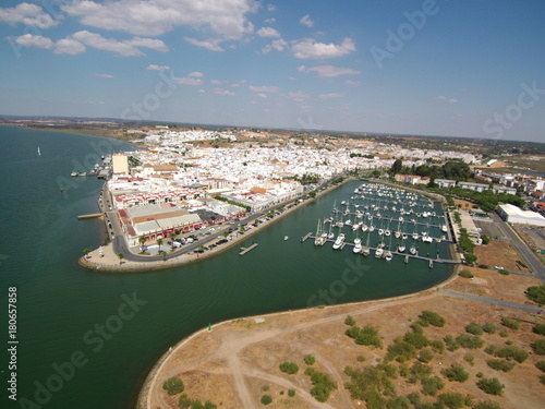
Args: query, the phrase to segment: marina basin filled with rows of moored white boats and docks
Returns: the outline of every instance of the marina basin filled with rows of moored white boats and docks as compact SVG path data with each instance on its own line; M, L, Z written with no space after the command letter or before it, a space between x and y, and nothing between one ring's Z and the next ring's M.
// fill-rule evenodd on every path
M318 219L316 232L306 233L301 241L313 239L316 246L331 243L334 250L349 245L354 254L374 254L388 262L393 256L403 257L405 264L421 260L429 268L434 263L460 263L449 256L452 234L448 213L437 201L400 188L365 182L340 205L338 208L335 202L332 216Z

